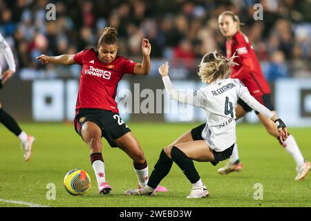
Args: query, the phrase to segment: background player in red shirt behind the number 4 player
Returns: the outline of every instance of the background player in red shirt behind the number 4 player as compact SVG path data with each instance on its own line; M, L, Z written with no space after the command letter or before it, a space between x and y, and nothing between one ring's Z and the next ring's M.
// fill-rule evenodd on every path
M275 109L271 102L271 90L270 86L267 84L261 66L256 57L252 44L249 42L248 38L240 30L240 19L238 16L234 15L231 11L225 11L221 13L218 17L218 25L223 36L227 38L226 49L227 58L232 57L232 55L238 55L234 62L238 65L232 66L231 78L240 79L245 86L247 86L249 93L261 104L266 106L274 114ZM238 100L238 106L236 108L236 118L239 119L245 116L252 108L249 107L243 100ZM279 132L276 125L271 122L270 119L256 112L261 123L267 129L270 135L279 138ZM280 142L283 148L285 148L290 155L294 158L296 162L296 177L295 180L302 180L308 171L310 171L310 162L304 160L299 146L296 144L294 137L292 135L288 136L284 142ZM234 148L234 152L230 157L227 165L218 170L220 174L228 174L233 171L241 171L243 165L241 164L238 157L238 148Z

